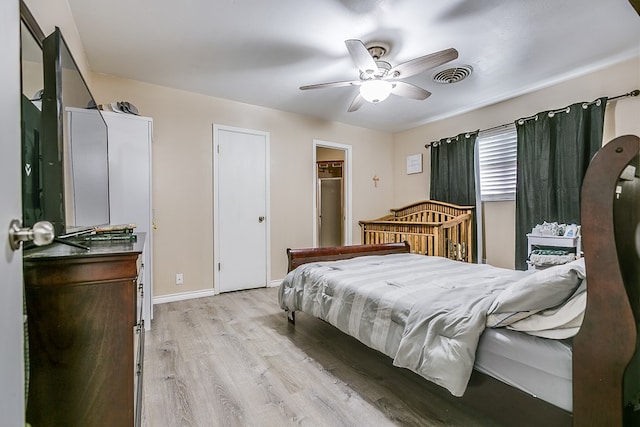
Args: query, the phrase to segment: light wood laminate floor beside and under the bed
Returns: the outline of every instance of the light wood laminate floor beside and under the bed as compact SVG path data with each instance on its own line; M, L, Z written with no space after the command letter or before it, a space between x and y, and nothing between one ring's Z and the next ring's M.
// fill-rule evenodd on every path
M496 425L436 389L263 288L154 307L143 425Z

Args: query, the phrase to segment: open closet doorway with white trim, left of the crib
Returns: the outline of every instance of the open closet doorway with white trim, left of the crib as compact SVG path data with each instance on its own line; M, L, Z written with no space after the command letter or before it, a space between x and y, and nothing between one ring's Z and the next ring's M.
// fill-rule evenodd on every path
M351 146L313 141L315 247L349 245L351 232Z

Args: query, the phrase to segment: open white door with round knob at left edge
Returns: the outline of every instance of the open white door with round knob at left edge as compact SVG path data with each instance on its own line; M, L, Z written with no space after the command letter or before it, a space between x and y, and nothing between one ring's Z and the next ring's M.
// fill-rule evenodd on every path
M9 223L22 218L20 187L20 14L0 2L0 414L3 425L24 425L22 251L9 247Z

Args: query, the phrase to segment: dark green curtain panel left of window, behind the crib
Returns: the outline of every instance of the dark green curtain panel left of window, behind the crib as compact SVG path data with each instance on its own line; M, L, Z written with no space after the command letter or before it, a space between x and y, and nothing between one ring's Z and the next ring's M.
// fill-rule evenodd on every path
M475 146L478 132L461 133L431 145L431 190L429 198L460 206L476 206ZM473 216L473 240L476 216ZM471 254L477 260L478 248Z

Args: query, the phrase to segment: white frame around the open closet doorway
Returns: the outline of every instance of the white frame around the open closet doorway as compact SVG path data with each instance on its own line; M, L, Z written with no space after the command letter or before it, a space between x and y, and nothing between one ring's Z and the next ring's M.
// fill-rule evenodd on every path
M318 247L318 168L316 167L317 156L316 152L318 147L321 148L330 148L332 150L341 150L344 152L344 170L342 173L343 183L344 183L344 242L343 245L350 245L353 242L353 230L351 227L351 212L352 212L352 158L353 158L353 147L347 144L339 144L337 142L329 142L322 141L320 139L313 140L313 197L312 197L312 208L311 208L311 217L312 217L312 226L313 226L313 247Z

